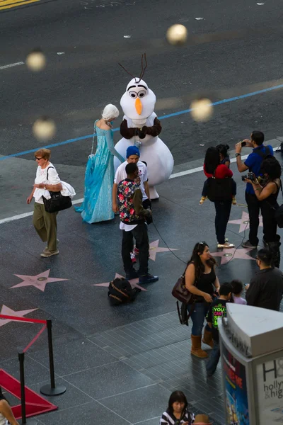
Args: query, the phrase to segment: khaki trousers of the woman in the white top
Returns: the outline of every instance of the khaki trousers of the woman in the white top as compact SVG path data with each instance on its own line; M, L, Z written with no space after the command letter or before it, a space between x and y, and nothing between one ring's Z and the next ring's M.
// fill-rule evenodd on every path
M58 212L45 211L44 204L35 202L33 225L42 242L47 242L49 251L57 251L57 216Z

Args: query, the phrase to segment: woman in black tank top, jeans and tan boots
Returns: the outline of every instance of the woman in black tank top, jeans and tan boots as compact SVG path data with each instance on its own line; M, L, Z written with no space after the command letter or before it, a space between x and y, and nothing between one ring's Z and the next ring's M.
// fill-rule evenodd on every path
M186 288L195 295L195 303L187 306L192 318L192 348L191 354L199 358L206 358L207 352L202 350L202 342L213 347L212 331L208 324L204 329L202 339L202 328L204 319L209 310L214 293L220 288L219 280L215 273L216 261L209 252L207 242L198 242L192 251L190 261L185 271Z

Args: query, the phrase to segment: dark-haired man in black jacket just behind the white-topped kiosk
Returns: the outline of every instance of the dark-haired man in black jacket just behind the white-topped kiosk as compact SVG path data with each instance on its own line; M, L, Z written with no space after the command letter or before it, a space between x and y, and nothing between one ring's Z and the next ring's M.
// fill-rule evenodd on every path
M283 295L283 273L272 266L272 254L269 249L258 251L258 273L250 280L246 292L248 305L279 311Z

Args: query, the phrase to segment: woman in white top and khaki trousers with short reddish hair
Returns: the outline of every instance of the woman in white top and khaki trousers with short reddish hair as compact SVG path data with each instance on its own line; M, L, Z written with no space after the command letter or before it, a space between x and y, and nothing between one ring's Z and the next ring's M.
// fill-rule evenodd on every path
M33 210L33 225L42 242L47 242L47 246L40 254L49 257L59 254L57 249L57 212L45 211L42 196L48 197L49 191L59 192L62 190L62 183L59 179L54 165L50 162L50 150L39 149L35 152L37 171L33 191L27 199L30 204L35 198L35 208Z

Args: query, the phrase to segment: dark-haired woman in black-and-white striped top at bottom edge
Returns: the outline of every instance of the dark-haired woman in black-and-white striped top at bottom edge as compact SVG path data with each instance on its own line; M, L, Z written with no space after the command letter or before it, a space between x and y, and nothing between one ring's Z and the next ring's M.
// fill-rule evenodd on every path
M172 392L168 409L161 416L159 425L191 425L195 415L187 410L187 399L182 391Z

